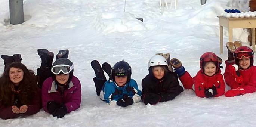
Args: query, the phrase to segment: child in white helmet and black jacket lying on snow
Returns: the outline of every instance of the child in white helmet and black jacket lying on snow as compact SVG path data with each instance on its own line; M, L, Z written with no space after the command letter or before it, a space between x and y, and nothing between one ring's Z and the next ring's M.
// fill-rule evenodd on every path
M163 56L153 56L148 62L148 70L149 74L142 79L141 99L145 105L173 100L183 92L176 73L168 70Z

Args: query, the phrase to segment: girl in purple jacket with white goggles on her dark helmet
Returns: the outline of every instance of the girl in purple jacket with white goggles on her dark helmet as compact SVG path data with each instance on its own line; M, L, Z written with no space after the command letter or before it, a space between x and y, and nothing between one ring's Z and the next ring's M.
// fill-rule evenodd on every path
M57 59L51 71L53 76L47 78L42 86L43 109L53 117L62 118L80 107L81 84L73 76L73 63L67 58Z

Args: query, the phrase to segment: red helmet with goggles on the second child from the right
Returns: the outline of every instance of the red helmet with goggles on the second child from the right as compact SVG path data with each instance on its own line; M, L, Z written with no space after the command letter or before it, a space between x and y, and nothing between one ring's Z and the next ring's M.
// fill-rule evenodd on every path
M206 52L204 53L201 57L200 57L200 68L201 68L201 71L204 72L204 64L206 62L209 62L209 61L212 61L215 66L216 66L216 73L219 72L219 68L220 68L220 64L222 63L222 61L219 63L219 60L220 58L218 58L218 56L213 53L213 52Z

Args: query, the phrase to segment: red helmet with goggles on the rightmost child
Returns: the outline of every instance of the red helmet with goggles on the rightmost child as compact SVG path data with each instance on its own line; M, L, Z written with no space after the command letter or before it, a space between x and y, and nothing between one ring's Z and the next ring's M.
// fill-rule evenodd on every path
M242 58L250 58L250 66L253 65L253 50L247 46L238 47L234 52L235 64L239 65Z

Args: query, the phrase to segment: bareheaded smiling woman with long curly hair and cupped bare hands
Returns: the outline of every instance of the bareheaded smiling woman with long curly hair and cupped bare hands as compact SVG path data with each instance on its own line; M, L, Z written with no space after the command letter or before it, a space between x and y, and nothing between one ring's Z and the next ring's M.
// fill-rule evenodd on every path
M6 66L0 77L0 118L37 113L41 108L41 90L37 81L34 72L20 62Z

